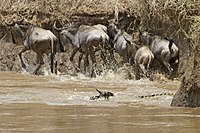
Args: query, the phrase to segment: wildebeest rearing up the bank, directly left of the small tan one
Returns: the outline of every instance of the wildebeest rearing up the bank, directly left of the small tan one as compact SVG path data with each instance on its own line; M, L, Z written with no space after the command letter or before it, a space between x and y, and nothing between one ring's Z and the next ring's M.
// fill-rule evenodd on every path
M119 30L114 22L108 25L108 35L114 50L123 57L123 63L132 64L136 52L136 44L132 41L132 37Z

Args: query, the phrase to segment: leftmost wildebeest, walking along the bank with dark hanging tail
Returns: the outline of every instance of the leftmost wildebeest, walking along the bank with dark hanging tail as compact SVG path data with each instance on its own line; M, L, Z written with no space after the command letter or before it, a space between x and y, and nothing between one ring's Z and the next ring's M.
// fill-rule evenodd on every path
M14 22L7 23L7 25L14 26ZM45 30L43 28L35 27L33 25L18 25L16 23L13 27L13 30L20 34L24 44L23 49L19 52L19 58L22 67L26 68L26 65L24 64L24 61L22 59L22 53L26 52L27 50L32 50L36 53L37 56L37 67L33 71L33 74L37 74L41 65L44 64L43 54L50 51L51 72L53 73L53 63L56 54L57 37L50 30Z

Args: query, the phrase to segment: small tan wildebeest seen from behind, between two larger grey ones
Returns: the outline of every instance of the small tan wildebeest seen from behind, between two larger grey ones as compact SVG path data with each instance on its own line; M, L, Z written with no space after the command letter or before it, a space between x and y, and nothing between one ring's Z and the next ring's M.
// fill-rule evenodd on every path
M142 46L137 50L134 57L134 62L136 66L139 66L144 75L149 76L147 75L147 72L149 72L149 65L153 59L154 55L149 47Z

